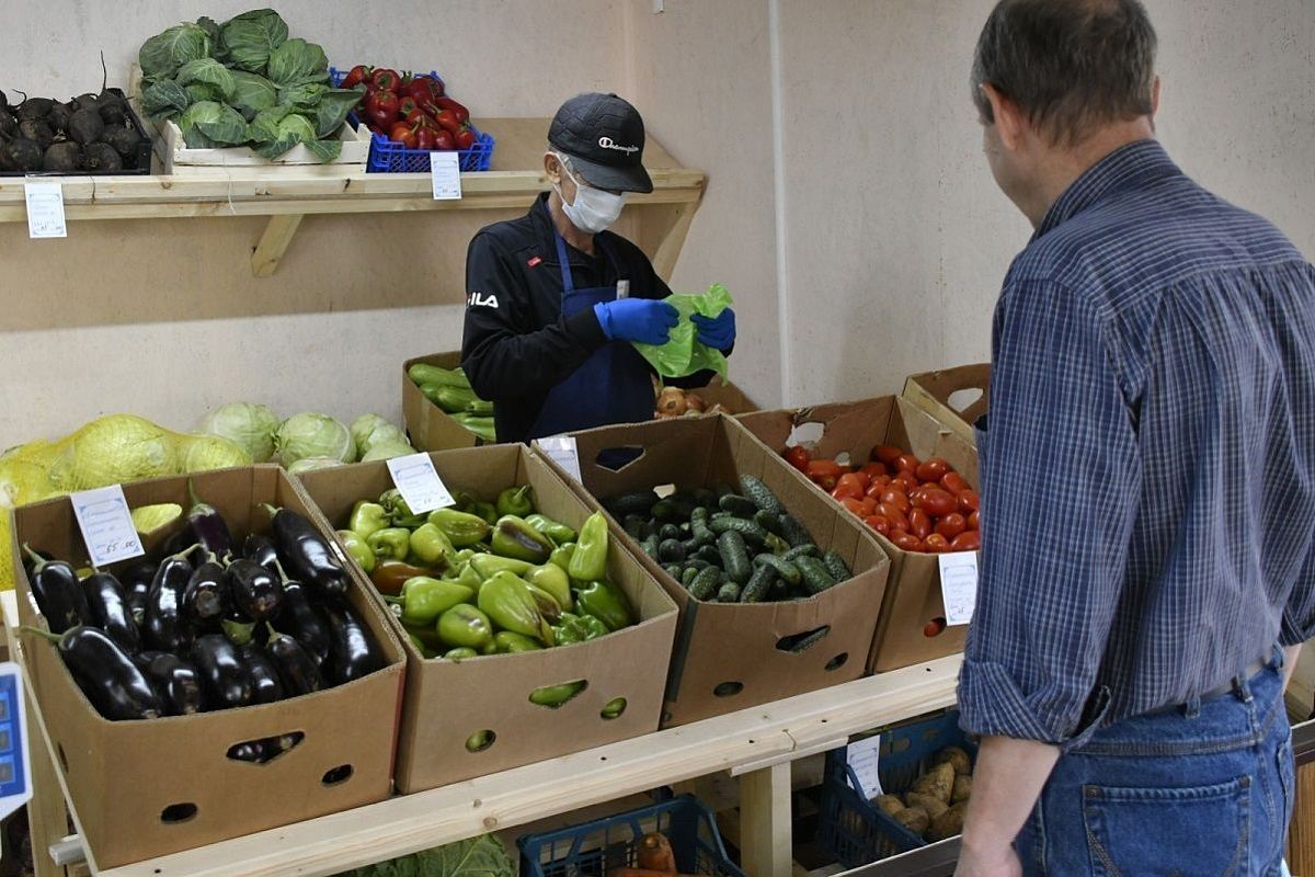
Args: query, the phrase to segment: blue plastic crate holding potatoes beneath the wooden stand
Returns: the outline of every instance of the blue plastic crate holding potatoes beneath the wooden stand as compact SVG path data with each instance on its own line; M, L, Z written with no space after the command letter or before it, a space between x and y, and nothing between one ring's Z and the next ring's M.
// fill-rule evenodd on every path
M959 728L957 710L882 730L877 767L882 790L888 794L906 792L931 767L932 756L947 746L977 756L977 744ZM848 868L927 845L868 801L843 748L827 752L821 803L818 841Z

